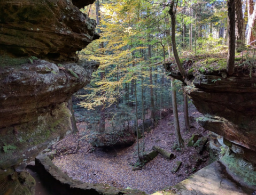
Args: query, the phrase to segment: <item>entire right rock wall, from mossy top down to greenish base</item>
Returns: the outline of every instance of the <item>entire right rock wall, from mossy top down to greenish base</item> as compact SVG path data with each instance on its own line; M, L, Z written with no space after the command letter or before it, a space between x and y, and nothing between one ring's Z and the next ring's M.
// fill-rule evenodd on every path
M255 190L255 68L243 66L238 58L234 74L227 75L226 59L201 62L184 61L186 77L174 68L174 63L168 63L169 75L183 82L185 93L203 113L204 117L198 118L198 122L210 131L213 151L225 153L221 161L229 174L239 185Z

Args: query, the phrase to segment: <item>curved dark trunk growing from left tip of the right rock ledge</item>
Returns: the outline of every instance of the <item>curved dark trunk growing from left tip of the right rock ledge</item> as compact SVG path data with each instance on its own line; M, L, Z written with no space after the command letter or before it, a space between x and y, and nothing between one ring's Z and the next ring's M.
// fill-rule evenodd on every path
M181 73L182 76L185 76L185 70L183 69L182 65L181 65L181 61L179 58L179 54L177 52L177 47L176 47L176 40L175 40L175 30L176 30L176 10L174 11L174 2L170 2L170 9L169 9L169 14L170 14L170 18L172 21L172 46L173 46L173 55L175 58L175 62L177 64L177 67Z

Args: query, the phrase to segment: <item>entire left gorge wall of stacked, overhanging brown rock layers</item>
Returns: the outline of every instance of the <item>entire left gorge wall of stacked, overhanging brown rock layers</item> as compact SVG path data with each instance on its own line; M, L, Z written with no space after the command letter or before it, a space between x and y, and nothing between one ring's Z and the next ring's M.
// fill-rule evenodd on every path
M76 54L99 38L79 10L93 2L0 0L1 195L33 194L25 166L72 132L67 101L99 66Z

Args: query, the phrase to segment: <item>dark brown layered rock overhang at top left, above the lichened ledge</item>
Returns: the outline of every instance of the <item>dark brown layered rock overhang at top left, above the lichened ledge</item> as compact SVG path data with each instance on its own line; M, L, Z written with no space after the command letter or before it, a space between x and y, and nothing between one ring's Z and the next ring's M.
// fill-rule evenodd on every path
M0 0L0 54L76 61L76 51L99 38L80 12L94 0Z

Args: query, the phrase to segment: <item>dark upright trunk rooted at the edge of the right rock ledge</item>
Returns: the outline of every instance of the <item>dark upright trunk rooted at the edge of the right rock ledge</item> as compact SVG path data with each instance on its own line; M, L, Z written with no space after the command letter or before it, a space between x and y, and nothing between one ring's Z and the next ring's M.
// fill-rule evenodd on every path
M228 21L229 21L229 43L228 43L228 61L227 72L232 75L235 70L235 52L236 52L236 18L235 18L235 0L228 0Z

